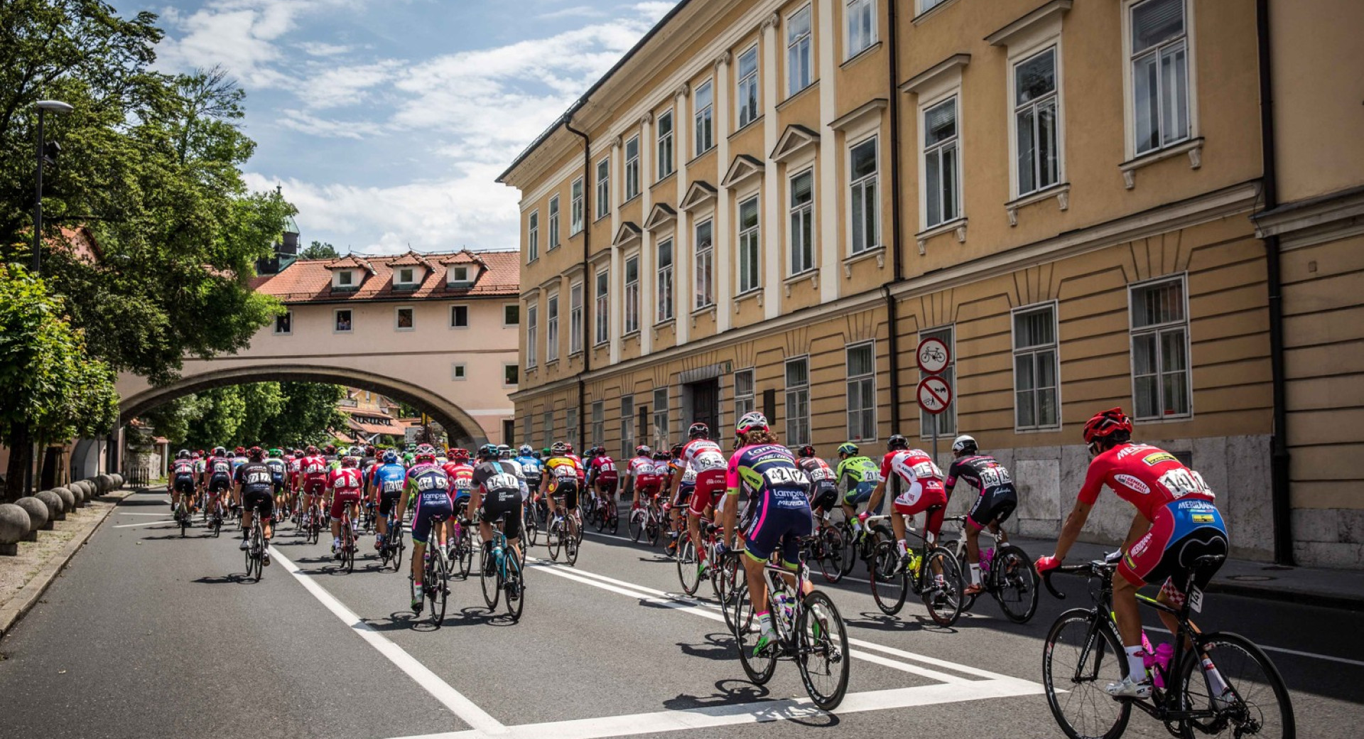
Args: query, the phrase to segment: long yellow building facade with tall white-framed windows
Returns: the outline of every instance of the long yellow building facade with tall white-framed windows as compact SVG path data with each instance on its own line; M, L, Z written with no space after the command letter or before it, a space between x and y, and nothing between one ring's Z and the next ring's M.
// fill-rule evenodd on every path
M1304 510L1364 507L1357 480L1297 488L1299 454L1320 454L1314 416L1274 443L1277 391L1296 386L1275 378L1290 353L1269 300L1293 282L1271 274L1255 218L1269 15L679 3L501 179L522 195L518 436L625 454L757 409L824 457L844 440L874 455L895 432L929 447L915 346L937 337L955 391L941 457L971 434L1008 465L1023 533L1057 532L1087 464L1080 428L1120 405L1218 491L1237 555L1364 562L1359 534L1322 548L1293 530ZM1360 290L1337 288L1357 311ZM1288 295L1288 311L1327 310ZM1353 350L1333 355L1337 374L1364 367ZM1125 509L1101 504L1090 536L1120 539Z

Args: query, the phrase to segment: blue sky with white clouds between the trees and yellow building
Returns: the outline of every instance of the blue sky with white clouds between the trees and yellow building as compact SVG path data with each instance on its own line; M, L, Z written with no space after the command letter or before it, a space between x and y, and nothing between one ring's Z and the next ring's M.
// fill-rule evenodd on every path
M222 64L247 91L246 166L304 243L516 248L516 154L672 5L641 0L195 0L161 15L158 67Z

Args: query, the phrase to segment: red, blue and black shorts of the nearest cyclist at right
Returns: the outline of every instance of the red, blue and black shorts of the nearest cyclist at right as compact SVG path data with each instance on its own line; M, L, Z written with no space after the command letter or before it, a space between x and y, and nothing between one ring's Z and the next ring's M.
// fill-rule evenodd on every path
M1138 586L1168 579L1168 586L1184 594L1195 559L1203 555L1226 556L1229 551L1226 525L1217 506L1185 496L1157 509L1151 529L1123 552L1117 571ZM1194 584L1206 588L1215 573L1217 567L1206 569Z

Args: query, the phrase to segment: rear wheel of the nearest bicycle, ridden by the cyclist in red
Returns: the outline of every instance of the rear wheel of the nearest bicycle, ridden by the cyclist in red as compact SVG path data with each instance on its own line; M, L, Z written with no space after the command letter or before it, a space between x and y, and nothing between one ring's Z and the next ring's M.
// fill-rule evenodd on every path
M1214 699L1210 675L1202 669L1198 653L1185 653L1177 672L1178 679L1173 684L1183 690L1187 710L1213 714L1184 721L1180 727L1181 736L1289 739L1296 735L1288 687L1263 649L1245 637L1230 633L1203 634L1198 638L1198 645L1217 665L1228 691Z

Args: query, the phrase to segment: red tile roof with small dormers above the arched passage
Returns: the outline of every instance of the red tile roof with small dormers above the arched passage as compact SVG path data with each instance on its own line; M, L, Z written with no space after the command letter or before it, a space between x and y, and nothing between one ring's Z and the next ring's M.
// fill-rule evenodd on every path
M461 258L461 255L468 255ZM419 259L427 263L481 263L473 285L450 288L446 285L446 271L432 269L416 289L393 289L393 266L411 263L411 252L398 256L355 256L340 259L300 259L276 275L258 277L251 288L278 297L282 303L351 303L367 300L449 300L461 297L518 296L521 293L521 259L516 251L468 250L450 254L426 254ZM367 269L361 274L359 289L333 290L331 270Z

